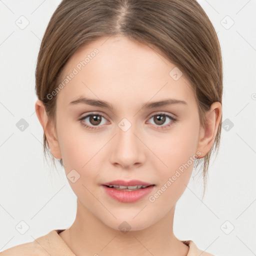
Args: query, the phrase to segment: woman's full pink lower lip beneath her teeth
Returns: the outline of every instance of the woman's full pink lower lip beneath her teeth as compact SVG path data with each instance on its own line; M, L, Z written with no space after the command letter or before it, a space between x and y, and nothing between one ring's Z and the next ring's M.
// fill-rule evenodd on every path
M150 193L154 187L154 185L147 186L145 188L139 188L134 191L122 191L117 190L112 187L108 187L103 185L106 193L112 198L116 199L120 202L135 202Z

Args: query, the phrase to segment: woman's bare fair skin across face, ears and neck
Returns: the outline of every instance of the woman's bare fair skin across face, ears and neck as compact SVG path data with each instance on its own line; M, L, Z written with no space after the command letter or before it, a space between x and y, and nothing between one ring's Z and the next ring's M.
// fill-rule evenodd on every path
M70 228L59 235L76 255L186 255L188 246L173 233L175 204L184 192L193 164L155 201L156 193L180 165L211 148L221 117L221 104L214 102L207 125L199 125L196 98L183 74L170 75L173 63L146 44L123 36L101 37L76 51L65 65L63 77L94 48L99 52L57 93L56 127L40 100L37 117L46 134L51 153L62 158L65 173L75 169L80 178L68 182L77 196L77 214ZM86 96L109 102L113 109L69 102ZM175 98L187 104L142 108L148 101ZM89 113L104 114L99 125L78 120ZM165 113L163 124L154 114ZM126 118L127 131L118 123ZM169 127L157 129L171 123ZM109 197L100 184L115 179L139 179L155 184L142 199L125 203ZM120 231L126 221L130 230Z

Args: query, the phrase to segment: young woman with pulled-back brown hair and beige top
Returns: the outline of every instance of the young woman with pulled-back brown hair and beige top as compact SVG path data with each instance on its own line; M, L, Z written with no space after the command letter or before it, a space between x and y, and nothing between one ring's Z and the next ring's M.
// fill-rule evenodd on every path
M2 256L212 255L173 233L193 166L205 182L220 139L221 52L195 0L63 0L36 94L44 153L64 167L77 214Z

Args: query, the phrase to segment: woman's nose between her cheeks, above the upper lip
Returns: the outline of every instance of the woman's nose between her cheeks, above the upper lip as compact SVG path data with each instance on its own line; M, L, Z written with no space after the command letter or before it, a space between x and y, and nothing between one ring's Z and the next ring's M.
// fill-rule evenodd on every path
M122 125L124 123L124 125ZM145 161L146 146L143 144L139 129L136 125L127 128L127 123L120 122L116 127L116 135L111 144L110 160L114 165L130 169L133 165L139 166ZM124 128L126 125L126 128Z

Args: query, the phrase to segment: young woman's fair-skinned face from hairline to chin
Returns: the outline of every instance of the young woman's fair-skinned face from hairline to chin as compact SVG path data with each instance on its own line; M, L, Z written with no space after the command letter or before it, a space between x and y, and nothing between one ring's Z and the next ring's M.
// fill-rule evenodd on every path
M126 221L140 230L173 209L189 181L200 134L195 96L180 75L162 55L126 37L100 38L72 55L54 95L55 134L78 210L114 229ZM110 107L70 103L83 97ZM169 99L180 102L147 106ZM135 201L117 200L102 185L133 179L153 184Z

